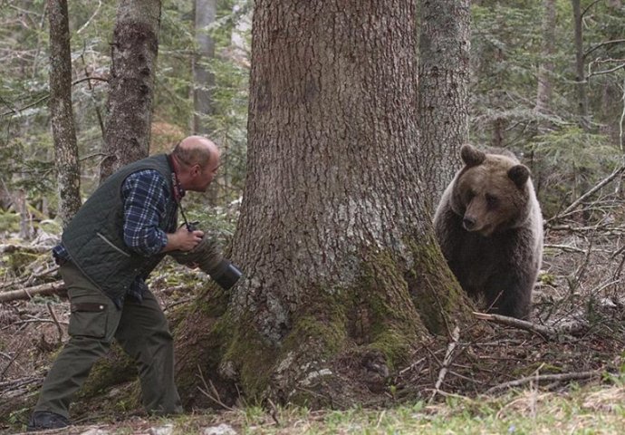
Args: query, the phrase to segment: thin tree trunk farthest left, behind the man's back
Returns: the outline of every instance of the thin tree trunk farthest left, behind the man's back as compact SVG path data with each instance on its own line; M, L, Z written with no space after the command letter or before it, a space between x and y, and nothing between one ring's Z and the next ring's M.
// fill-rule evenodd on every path
M72 56L67 0L48 2L50 17L50 112L63 227L81 207L81 170L72 112Z

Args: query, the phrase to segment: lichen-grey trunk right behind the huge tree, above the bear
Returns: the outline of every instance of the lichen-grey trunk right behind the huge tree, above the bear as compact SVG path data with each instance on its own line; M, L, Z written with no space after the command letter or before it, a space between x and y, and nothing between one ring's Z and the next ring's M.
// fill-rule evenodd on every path
M421 1L418 61L418 126L421 156L438 170L419 164L428 197L438 198L453 179L460 146L468 141L468 86L471 11L468 0ZM422 157L423 158L423 157Z

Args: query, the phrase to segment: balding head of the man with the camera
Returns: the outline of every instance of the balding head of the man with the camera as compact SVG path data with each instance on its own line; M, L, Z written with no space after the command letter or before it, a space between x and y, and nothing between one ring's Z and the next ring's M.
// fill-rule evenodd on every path
M180 187L195 192L206 192L219 168L216 144L202 136L189 136L178 142L172 156L178 163Z

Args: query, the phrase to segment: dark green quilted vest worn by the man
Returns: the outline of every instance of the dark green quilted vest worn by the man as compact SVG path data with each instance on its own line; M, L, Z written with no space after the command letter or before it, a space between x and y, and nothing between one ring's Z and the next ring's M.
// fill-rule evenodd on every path
M63 246L72 263L113 301L123 299L135 278L147 277L164 256L142 256L124 243L121 187L131 173L142 169L158 170L171 191L171 169L165 154L135 161L106 179L63 231ZM160 228L172 233L176 231L176 220L172 227L165 227L163 222Z

